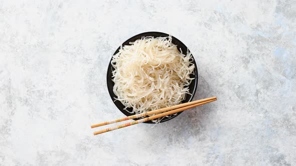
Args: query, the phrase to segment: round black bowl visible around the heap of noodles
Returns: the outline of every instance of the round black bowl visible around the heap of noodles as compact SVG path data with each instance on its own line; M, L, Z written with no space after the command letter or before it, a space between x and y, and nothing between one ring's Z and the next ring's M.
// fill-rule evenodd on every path
M127 39L126 41L124 41L122 43L122 45L130 45L129 42L135 41L137 39L141 39L142 36L166 37L166 36L169 36L169 34L163 33L163 32L157 32L157 31L143 32L143 33L140 33L140 34L137 34L135 36L130 37L129 39ZM177 45L177 47L178 47L179 50L181 48L183 53L184 52L186 53L187 50L189 50L187 48L187 46L183 42L181 42L178 38L176 38L174 36L172 36L172 42ZM120 49L120 46L116 49L116 51L114 52L114 54L116 54L119 51L119 49ZM185 99L182 102L192 101L193 96L194 96L195 91L196 91L196 88L197 88L198 72L197 72L197 66L196 66L196 62L195 62L194 58L193 58L193 63L195 65L195 69L194 69L194 73L195 74L190 75L190 77L195 77L195 79L193 79L192 82L191 82L191 84L189 85L189 92L192 95L186 94ZM114 82L112 81L112 70L114 70L114 68L112 67L111 60L110 60L109 66L108 66L108 70L107 70L107 86L108 86L109 94L110 94L110 96L111 96L114 104L117 106L117 108L122 113L124 113L126 116L133 115L133 113L129 113L128 111L126 111L126 110L123 109L125 106L120 101L114 99L114 97L116 97L116 95L113 93ZM131 108L127 108L127 109L129 111L132 110ZM181 112L177 113L176 115L172 115L171 117L164 117L161 122L168 121L168 120L176 117L180 113ZM134 119L134 120L137 120L137 119ZM147 121L145 123L154 123L154 122Z

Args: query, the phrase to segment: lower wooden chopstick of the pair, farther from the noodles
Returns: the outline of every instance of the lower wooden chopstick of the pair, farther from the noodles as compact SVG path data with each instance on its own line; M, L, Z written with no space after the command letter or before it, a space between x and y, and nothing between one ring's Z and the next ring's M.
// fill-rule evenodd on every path
M177 113L177 112L181 112L181 111L184 111L186 109L193 108L193 107L196 107L196 106L208 103L208 102L212 102L212 101L215 101L215 100L217 100L217 98L207 100L207 101L204 101L204 102L199 102L199 103L196 103L196 104L193 104L193 105L184 106L184 107L177 108L177 109L167 111L167 112L164 112L164 113L160 113L160 114L157 114L157 115L154 115L154 116L145 117L145 118L135 120L135 121L132 121L132 122L128 122L128 123L116 125L116 126L113 126L113 127L105 128L105 129L102 129L102 130L99 130L99 131L95 131L93 134L97 135L97 134L100 134L100 133L104 133L104 132L112 131L112 130L115 130L115 129L127 127L127 126L130 126L130 125L133 125L133 124L142 123L142 122L145 122L145 121L157 119L159 117L163 117L163 116L167 116L167 115L174 114L174 113Z

